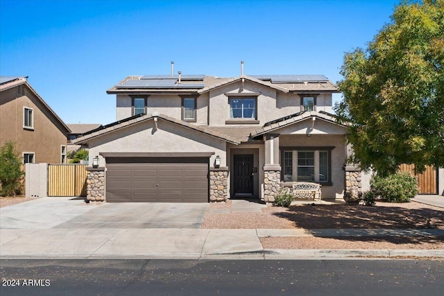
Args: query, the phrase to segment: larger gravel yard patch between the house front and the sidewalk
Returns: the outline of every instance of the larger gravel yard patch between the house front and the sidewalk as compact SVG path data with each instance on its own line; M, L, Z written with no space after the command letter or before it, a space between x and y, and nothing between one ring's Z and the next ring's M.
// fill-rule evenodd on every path
M211 209L227 209L213 214ZM212 203L201 228L219 229L403 229L444 228L444 209L419 202L393 204L377 202L376 207L349 204L303 204L289 208L264 207L262 213L233 213L231 201Z

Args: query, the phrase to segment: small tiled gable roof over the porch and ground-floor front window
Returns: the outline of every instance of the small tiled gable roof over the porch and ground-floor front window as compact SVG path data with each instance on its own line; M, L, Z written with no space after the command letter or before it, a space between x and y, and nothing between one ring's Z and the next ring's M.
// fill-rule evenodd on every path
M255 130L251 132L250 137L253 139L254 137L260 136L262 134L267 134L268 132L273 132L273 130L278 130L279 128L283 128L287 125L291 125L293 123L297 123L300 121L303 121L310 117L316 117L318 119L323 119L325 121L329 121L331 123L342 125L339 123L336 123L336 115L324 112L324 111L302 111L295 114L291 114L289 116L284 116L280 119L276 119L274 121L270 121L264 124L262 128L259 128L258 130ZM342 125L345 126L345 125Z

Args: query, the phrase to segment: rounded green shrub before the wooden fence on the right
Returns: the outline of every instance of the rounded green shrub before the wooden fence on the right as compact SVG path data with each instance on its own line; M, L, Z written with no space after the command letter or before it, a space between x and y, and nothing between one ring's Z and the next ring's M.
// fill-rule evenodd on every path
M409 202L419 192L416 177L408 172L398 172L387 177L376 175L372 178L370 185L375 195L379 195L387 202Z

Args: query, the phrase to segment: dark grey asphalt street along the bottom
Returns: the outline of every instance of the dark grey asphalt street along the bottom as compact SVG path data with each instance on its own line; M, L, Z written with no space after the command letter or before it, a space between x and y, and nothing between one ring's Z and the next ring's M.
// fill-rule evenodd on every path
M434 296L444 288L444 262L434 260L2 260L0 275L1 295Z

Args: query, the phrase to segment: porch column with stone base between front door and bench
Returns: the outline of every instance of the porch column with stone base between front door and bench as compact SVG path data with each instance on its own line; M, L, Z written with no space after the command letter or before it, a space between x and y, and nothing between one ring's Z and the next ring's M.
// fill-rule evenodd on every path
M265 136L264 202L274 202L280 189L279 134Z

